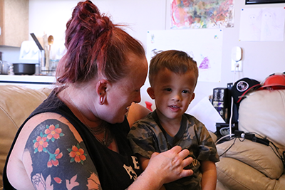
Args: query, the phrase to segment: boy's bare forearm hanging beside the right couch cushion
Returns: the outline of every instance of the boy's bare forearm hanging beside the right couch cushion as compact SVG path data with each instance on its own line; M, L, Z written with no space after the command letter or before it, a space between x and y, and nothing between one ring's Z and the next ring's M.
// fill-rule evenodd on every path
M202 161L202 190L214 190L217 184L216 164L212 161Z

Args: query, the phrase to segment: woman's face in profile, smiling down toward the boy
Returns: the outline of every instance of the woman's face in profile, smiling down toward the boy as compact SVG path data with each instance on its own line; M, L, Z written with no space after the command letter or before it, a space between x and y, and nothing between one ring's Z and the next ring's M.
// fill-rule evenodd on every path
M110 123L120 123L132 102L140 102L140 88L147 77L147 60L129 54L130 72L125 78L110 84L107 90L105 107L100 110L100 119Z

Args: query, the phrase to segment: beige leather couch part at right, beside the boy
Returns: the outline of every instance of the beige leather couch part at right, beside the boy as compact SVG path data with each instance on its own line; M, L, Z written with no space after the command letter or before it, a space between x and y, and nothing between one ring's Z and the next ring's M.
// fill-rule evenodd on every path
M247 95L239 107L239 130L266 137L282 154L285 90L258 90ZM223 155L216 164L217 189L284 190L284 164L274 153L272 143L266 146L248 139L232 139L218 144L219 155Z

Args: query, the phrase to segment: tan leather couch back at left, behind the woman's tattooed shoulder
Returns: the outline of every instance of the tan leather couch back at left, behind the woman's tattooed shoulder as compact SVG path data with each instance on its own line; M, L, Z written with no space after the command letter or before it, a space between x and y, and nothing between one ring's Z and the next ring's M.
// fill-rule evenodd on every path
M14 136L22 122L51 93L51 89L32 90L16 85L0 85L0 189L2 174Z

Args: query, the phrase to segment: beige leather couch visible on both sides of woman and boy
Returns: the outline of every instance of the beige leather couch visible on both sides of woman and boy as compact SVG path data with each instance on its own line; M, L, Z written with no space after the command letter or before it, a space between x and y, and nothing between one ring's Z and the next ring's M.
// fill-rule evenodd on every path
M51 89L32 90L0 85L0 189L6 155L16 131L26 117L46 99ZM251 93L239 107L239 130L267 136L280 151L285 150L285 90L261 90ZM216 137L213 137L216 139ZM217 145L224 153L233 141ZM217 190L285 189L282 162L271 147L236 139L217 162Z

